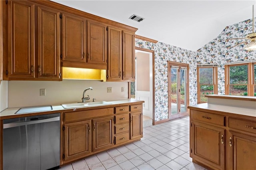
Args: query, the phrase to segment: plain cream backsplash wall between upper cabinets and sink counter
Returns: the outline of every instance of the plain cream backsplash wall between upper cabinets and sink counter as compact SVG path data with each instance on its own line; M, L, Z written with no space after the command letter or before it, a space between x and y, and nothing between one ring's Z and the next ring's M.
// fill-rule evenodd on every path
M93 88L93 90L86 91L86 97L89 95L90 101L93 98L96 101L128 98L127 82L8 81L8 108L81 102L84 89L88 87ZM112 93L107 93L107 87L112 87ZM122 87L125 88L124 92L121 92ZM46 89L46 96L40 96L40 89Z

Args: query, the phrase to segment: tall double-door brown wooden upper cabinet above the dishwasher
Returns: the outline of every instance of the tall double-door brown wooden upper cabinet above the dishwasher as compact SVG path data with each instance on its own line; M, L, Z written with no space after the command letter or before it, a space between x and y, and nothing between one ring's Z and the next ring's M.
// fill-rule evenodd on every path
M8 79L60 80L59 12L29 1L7 5Z

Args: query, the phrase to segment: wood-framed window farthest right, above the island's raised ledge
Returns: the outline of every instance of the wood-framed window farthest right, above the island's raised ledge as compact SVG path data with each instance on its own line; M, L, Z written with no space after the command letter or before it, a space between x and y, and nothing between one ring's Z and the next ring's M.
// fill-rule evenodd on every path
M225 65L225 94L256 96L256 63Z

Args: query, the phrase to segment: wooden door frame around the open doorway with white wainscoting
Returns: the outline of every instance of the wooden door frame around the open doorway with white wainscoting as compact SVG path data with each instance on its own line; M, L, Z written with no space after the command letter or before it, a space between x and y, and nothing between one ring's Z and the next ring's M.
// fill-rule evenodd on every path
M146 48L140 48L140 47L135 47L135 49L140 50L140 51L146 51L149 53L152 53L152 111L153 111L153 122L152 125L155 125L155 51L151 50L151 49L146 49ZM131 98L131 94L130 94L130 82L128 85L128 98Z

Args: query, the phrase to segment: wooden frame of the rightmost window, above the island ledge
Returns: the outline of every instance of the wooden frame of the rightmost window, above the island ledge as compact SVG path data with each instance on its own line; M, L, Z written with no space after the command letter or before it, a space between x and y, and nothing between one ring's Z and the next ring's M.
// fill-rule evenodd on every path
M248 81L247 84L232 84L232 85L247 85L247 96L254 97L254 65L256 62L240 63L240 64L228 64L225 65L225 95L230 93L230 67L247 65L248 67Z

